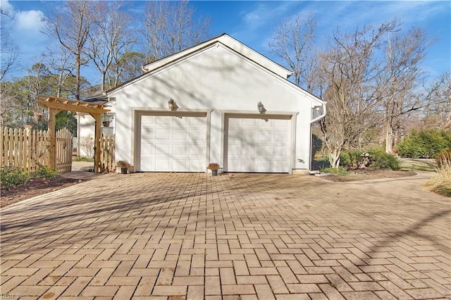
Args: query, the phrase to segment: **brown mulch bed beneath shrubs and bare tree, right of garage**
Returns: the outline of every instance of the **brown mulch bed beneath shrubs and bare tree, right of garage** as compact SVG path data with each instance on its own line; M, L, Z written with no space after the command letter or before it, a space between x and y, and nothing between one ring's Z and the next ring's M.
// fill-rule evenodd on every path
M347 182L347 181L357 181L357 180L371 180L371 179L381 179L381 178L395 178L395 177L406 177L416 175L412 170L378 170L378 169L359 169L350 170L348 175L328 175L324 176L324 179L333 182Z

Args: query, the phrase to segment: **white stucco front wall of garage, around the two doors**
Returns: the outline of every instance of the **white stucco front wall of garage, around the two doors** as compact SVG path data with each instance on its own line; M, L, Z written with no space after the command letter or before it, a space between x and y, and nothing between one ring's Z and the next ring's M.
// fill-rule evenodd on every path
M221 44L151 72L109 96L116 97L117 160L134 161L135 111L168 111L172 98L179 111L212 110L209 161L223 165L223 112L257 113L261 101L266 113L295 115L292 168L308 168L311 107L320 102Z

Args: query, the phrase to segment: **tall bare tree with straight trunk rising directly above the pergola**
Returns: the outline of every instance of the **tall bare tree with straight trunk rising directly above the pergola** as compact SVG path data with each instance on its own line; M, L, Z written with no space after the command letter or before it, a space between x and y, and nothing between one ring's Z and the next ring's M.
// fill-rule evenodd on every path
M89 30L94 23L97 1L72 0L66 1L58 12L44 18L45 31L51 39L56 39L63 45L75 60L75 99L80 100L80 67L87 63L85 44Z

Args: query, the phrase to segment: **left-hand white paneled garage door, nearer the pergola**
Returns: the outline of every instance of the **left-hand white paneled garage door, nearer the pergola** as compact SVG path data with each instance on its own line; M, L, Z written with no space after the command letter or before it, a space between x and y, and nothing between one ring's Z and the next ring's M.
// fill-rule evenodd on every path
M206 118L142 115L140 146L142 171L203 171Z

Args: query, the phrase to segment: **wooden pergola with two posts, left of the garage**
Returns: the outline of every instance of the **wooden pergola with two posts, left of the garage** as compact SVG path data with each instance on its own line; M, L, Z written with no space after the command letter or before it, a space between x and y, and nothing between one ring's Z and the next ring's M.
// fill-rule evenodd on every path
M60 111L75 111L78 113L89 113L96 121L96 129L94 136L94 173L101 173L100 161L100 137L101 137L101 115L109 112L103 104L95 104L85 101L70 100L59 98L56 96L37 96L37 104L49 108L49 136L50 136L50 167L56 168L56 131L55 131L55 115Z

